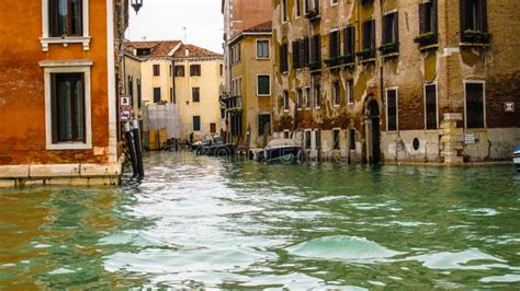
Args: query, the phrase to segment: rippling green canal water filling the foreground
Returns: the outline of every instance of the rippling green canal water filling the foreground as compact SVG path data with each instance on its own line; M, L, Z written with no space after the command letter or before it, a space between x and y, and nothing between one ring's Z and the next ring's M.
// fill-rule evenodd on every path
M520 288L512 166L146 164L121 188L0 189L0 289Z

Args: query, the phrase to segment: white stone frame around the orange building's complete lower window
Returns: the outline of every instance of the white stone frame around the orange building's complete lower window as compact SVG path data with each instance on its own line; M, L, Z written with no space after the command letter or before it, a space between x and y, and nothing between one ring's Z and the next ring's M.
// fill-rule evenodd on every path
M91 119L91 60L45 60L39 62L44 69L45 84L45 141L46 149L52 150L91 150L92 149L92 119ZM52 73L83 73L84 79L84 142L53 142L53 92Z

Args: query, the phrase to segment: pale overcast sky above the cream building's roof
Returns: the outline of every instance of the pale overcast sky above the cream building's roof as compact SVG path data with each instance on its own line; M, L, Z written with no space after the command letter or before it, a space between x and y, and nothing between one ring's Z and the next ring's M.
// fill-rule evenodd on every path
M131 9L126 38L131 40L184 42L222 53L223 15L222 0L143 0L139 14Z

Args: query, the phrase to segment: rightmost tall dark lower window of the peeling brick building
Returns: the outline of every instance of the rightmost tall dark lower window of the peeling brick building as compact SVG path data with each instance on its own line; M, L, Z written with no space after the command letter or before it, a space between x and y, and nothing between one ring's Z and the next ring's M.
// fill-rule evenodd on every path
M466 128L484 128L484 83L465 83Z

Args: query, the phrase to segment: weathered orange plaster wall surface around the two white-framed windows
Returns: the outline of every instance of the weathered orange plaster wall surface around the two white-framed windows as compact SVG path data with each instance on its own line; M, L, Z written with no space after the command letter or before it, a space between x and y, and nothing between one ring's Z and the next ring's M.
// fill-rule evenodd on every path
M31 16L21 16L31 15ZM81 44L42 51L42 1L15 1L0 11L0 165L106 163L109 105L106 3L90 1L90 50ZM95 21L94 21L95 20ZM42 60L89 59L92 67L92 150L47 151Z

